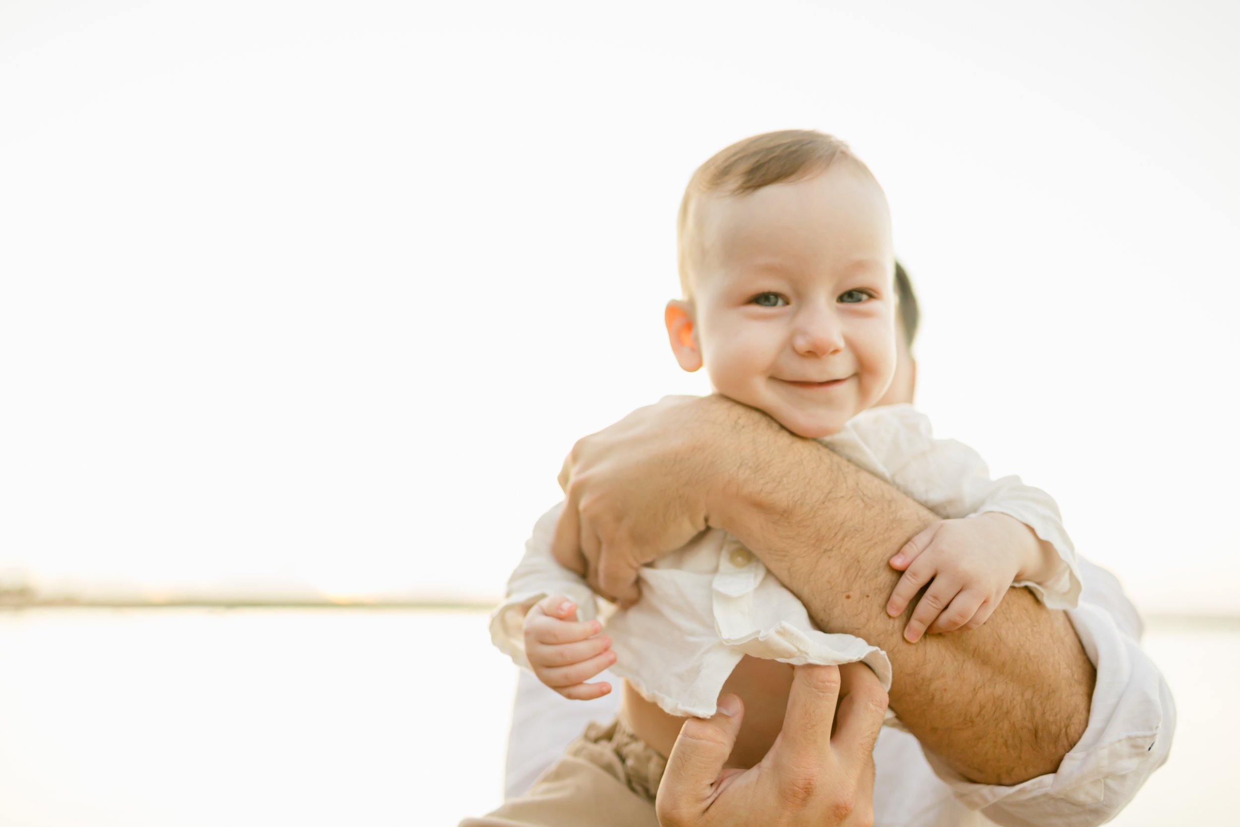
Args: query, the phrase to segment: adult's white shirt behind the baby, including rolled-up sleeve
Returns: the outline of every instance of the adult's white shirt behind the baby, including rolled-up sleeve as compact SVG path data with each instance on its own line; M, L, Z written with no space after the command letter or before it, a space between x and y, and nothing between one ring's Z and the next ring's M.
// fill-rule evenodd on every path
M1068 616L1097 681L1085 734L1059 770L1014 786L972 784L923 751L913 735L884 728L874 746L875 827L1092 827L1114 818L1167 760L1176 704L1141 648L1141 617L1115 575L1078 560L1080 605ZM595 679L615 683L606 673ZM618 696L567 701L522 670L505 794L528 790L587 723L614 718Z

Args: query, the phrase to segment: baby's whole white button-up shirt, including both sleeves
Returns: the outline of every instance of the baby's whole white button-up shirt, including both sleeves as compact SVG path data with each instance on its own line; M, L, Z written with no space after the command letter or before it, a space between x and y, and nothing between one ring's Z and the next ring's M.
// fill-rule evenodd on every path
M1016 476L991 480L976 451L934 439L930 420L910 405L870 408L820 441L940 517L993 511L1029 526L1059 552L1060 565L1044 583L1013 585L1029 586L1053 609L1076 606L1076 552L1044 491ZM538 520L508 578L507 599L491 615L492 642L526 668L522 625L538 600L563 594L577 603L578 620L599 614L585 580L552 557L562 507ZM616 655L610 671L668 714L713 715L724 681L745 655L792 665L864 661L890 689L892 666L880 648L853 635L820 631L796 595L722 529L703 532L642 567L639 577L641 600L605 619Z

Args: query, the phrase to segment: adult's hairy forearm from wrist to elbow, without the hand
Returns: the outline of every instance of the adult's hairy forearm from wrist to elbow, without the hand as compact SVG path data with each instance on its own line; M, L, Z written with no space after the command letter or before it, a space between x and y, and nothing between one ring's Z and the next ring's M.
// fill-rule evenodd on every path
M921 744L966 777L1016 784L1053 772L1085 732L1094 667L1061 611L1013 589L981 627L903 637L889 617L900 573L888 559L936 517L817 443L745 409L720 455L712 524L735 534L815 621L880 646L890 705Z

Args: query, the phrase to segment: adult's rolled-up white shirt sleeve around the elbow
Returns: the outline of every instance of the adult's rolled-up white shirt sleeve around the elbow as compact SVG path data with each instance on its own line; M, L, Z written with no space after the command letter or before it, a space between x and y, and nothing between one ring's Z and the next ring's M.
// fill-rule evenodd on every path
M1115 818L1163 765L1176 733L1167 681L1141 650L1141 620L1109 572L1080 560L1085 589L1068 617L1097 670L1089 724L1059 769L1013 786L973 784L926 760L957 800L1006 827L1095 827Z

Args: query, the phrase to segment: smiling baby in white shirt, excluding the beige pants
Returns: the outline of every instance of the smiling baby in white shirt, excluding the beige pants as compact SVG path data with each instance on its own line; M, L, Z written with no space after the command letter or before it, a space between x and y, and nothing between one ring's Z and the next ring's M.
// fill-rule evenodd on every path
M717 393L822 441L944 518L890 560L904 572L890 615L925 588L909 642L977 627L1012 586L1052 608L1076 605L1075 552L1049 496L1017 477L991 480L976 453L934 439L910 405L875 407L897 368L890 216L844 144L795 130L724 149L689 181L678 250L683 298L667 304L665 321L680 366L704 367ZM729 764L751 766L779 734L790 665L863 661L890 688L882 650L817 629L719 529L645 567L641 600L601 622L584 579L552 557L560 507L536 524L492 615L492 640L565 698L610 692L588 682L610 667L625 679L621 724L655 753L666 756L683 718L714 714L727 691L746 709Z

